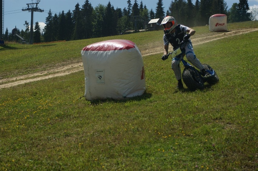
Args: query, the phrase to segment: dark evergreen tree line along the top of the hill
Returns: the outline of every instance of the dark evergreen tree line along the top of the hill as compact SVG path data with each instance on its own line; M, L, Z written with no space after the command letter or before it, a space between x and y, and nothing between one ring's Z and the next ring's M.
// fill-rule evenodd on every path
M34 43L51 42L58 40L80 40L94 37L113 36L124 33L125 30L145 29L148 22L154 18L162 19L167 16L176 18L177 23L187 25L188 27L202 26L209 24L209 17L213 14L226 14L230 21L234 21L236 14L241 11L241 15L250 20L248 14L249 6L247 0L239 0L234 3L230 10L227 10L227 3L224 0L172 0L168 10L165 12L162 0L158 0L155 12L153 9L147 9L146 5L140 4L134 0L127 0L127 7L114 8L110 1L107 5L99 4L92 7L89 0L85 0L80 7L79 3L75 5L74 10L64 11L54 14L48 11L43 30L40 29L39 23L34 27ZM29 23L25 21L25 30L17 32L29 39ZM15 27L16 28L16 27ZM18 41L17 36L13 36L6 28L4 34L5 40Z

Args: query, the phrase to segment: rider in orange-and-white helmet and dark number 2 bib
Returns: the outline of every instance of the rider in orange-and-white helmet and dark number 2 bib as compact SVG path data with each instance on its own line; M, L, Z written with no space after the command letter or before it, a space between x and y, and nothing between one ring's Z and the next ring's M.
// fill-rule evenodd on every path
M189 39L190 36L193 36L195 33L195 30L184 26L184 25L177 25L177 21L174 19L174 17L167 16L163 19L160 25L163 25L164 27L164 55L162 56L162 60L166 60L168 58L168 45L171 43L173 46L173 49L179 48L179 43L183 40L188 40L185 47L185 54L187 60L189 60L195 67L197 67L201 74L203 76L207 76L208 72L205 71L203 65L200 63L199 59L196 57L196 55L193 52L193 45L191 40ZM172 59L171 67L175 73L176 79L178 81L177 88L178 89L184 89L184 86L182 84L181 79L181 69L180 69L180 60L184 57L174 58Z

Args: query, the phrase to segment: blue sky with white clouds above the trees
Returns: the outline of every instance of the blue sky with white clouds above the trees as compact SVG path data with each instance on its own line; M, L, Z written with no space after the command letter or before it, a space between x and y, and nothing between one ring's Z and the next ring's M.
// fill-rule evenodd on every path
M5 33L6 28L8 32L12 32L12 29L18 28L25 30L25 21L31 25L31 12L22 11L22 8L26 8L29 3L36 3L36 0L3 0L4 1L4 27L3 32ZM127 0L89 0L92 7L98 6L98 4L107 5L110 1L114 8L127 8ZM148 10L156 12L158 0L137 0L138 5L141 1L143 5L146 5ZM196 0L192 0L193 4ZM227 9L230 9L233 3L239 3L239 0L224 0L227 2ZM48 16L48 11L51 9L52 15L58 14L64 11L65 13L72 12L75 9L75 5L79 3L80 7L84 4L85 0L41 0L38 4L38 8L43 9L44 12L34 12L34 23L39 22L41 31L45 26L46 17ZM171 0L163 0L164 11L166 12L170 6ZM131 4L134 4L134 0L131 0ZM258 8L258 0L248 0L249 8Z

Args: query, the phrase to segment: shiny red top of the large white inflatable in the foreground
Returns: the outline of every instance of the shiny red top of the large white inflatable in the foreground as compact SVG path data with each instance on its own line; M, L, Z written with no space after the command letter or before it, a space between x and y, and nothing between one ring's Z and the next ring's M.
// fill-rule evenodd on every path
M107 40L98 43L93 43L84 47L84 51L111 51L111 50L124 50L135 48L135 43L130 40Z

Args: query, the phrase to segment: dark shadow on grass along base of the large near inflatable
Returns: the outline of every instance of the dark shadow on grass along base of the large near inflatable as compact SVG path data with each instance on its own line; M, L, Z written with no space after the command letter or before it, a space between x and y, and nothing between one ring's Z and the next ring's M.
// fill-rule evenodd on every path
M91 105L98 105L101 103L108 103L108 102L115 102L115 103L125 103L125 102L130 102L130 101L141 101L141 100L146 100L152 97L151 93L146 93L144 92L143 95L141 96L135 96L135 97L130 97L130 98L125 98L125 99L104 99L104 100L91 100Z

